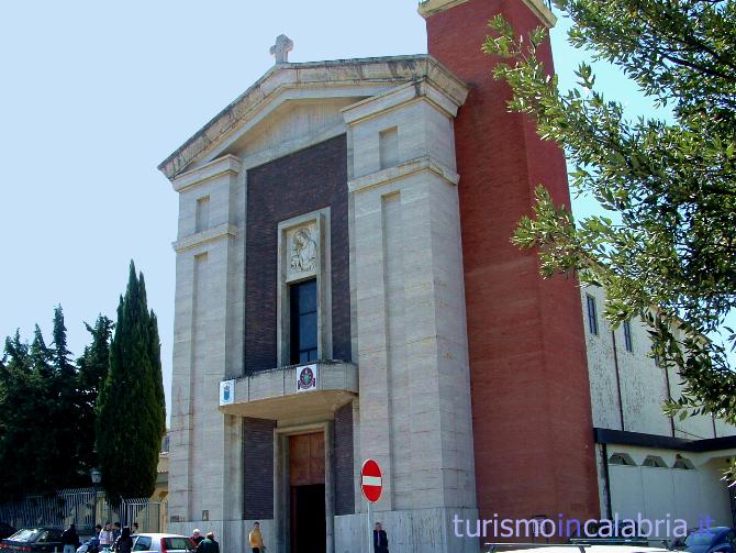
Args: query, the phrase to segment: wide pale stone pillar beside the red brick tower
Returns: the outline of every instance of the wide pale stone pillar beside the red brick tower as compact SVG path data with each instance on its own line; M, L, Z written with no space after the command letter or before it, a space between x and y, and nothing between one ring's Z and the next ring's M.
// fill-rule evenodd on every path
M378 518L476 506L451 114L421 91L406 93L400 87L393 99L392 91L376 98L375 111L363 102L359 117L346 111L356 177L348 184L360 367L356 469L368 457L383 469ZM394 126L398 166L381 169L379 136ZM360 495L356 502L365 510ZM422 533L451 528L433 520L437 528ZM434 551L425 548L434 538L427 544L411 535L406 546Z

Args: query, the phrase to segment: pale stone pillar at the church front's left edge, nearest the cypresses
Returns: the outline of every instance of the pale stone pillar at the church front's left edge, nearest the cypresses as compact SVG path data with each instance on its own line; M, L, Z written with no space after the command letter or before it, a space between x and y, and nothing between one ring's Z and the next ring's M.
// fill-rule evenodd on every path
M232 537L242 518L241 419L219 409L219 383L242 367L245 196L231 156L174 180L180 193L175 292L169 526L186 523ZM197 232L197 200L210 197L207 229ZM207 516L207 520L203 520ZM181 521L181 522L179 522ZM185 522L186 521L186 522Z

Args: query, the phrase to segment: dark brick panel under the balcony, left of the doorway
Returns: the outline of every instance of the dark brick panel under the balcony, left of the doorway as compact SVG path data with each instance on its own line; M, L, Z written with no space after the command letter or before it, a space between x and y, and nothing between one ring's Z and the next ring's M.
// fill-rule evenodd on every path
M243 419L243 518L274 518L274 428L276 422Z

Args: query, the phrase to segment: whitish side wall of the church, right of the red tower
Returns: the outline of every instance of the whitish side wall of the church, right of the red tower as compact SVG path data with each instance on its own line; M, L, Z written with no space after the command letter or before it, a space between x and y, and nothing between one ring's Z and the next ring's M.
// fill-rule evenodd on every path
M688 528L706 517L713 524L732 526L734 513L722 478L736 451L662 447L657 446L657 436L666 439L661 443L712 440L734 435L736 428L706 416L684 420L665 416L663 401L678 398L682 383L676 369L657 366L646 325L633 320L629 331L624 324L613 330L603 317L605 291L600 287L582 288L581 300L593 427L643 434L642 440L650 442L650 446L596 444L601 512L683 519ZM666 531L663 526L660 530Z

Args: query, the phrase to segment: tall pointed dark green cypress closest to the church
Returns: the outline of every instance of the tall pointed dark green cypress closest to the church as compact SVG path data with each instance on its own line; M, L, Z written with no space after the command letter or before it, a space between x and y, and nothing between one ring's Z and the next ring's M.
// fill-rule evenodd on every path
M102 485L113 497L149 497L166 430L156 316L143 274L131 262L110 343L110 370L98 398L97 452Z

